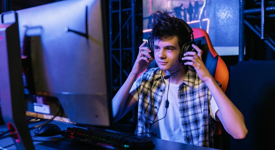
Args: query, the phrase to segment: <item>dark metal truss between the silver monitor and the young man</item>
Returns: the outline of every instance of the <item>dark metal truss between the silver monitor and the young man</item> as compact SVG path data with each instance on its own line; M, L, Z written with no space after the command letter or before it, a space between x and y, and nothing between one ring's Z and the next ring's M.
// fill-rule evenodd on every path
M109 0L109 31L113 97L131 72L142 42L142 0ZM125 117L134 122L134 113Z

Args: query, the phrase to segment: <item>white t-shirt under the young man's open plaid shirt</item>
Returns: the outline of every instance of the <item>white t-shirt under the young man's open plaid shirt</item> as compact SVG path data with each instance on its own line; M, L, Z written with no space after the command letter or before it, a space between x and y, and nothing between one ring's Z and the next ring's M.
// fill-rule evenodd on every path
M180 110L179 110L179 105L177 100L179 84L170 83L169 91L168 91L168 83L169 83L168 81L169 79L165 79L166 88L165 88L165 92L162 97L162 101L159 106L159 112L156 118L156 120L158 119L161 119L161 120L154 123L151 132L157 135L156 138L183 143L183 138L181 138L183 137L183 133L182 133L182 127L181 127L181 120L180 120ZM134 83L134 85L130 90L130 94L138 101L138 94L136 89L137 89L136 83ZM165 101L167 100L167 92L168 92L169 107L167 108L167 114L165 116L165 113L166 113ZM212 116L213 119L216 119L215 114L218 111L218 106L213 97L211 97L210 104L211 104L210 115ZM163 118L164 116L165 118Z

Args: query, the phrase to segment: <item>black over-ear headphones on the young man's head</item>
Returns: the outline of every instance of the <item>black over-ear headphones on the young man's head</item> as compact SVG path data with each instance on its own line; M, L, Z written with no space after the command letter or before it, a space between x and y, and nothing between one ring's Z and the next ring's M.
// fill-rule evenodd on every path
M180 18L177 18L177 19L179 19L180 22L183 23L183 25L186 27L186 30L188 31L188 33L192 37L192 40L186 42L185 44L183 44L183 46L180 49L179 61L182 62L181 58L183 58L183 54L186 53L186 52L189 52L189 51L192 51L192 52L195 51L195 49L192 47L192 44L195 45L196 43L194 41L194 35L193 35L192 28L183 19L180 19ZM148 38L148 48L151 50L151 52L150 52L151 57L154 58L155 47L154 47L154 41L151 39L151 37Z

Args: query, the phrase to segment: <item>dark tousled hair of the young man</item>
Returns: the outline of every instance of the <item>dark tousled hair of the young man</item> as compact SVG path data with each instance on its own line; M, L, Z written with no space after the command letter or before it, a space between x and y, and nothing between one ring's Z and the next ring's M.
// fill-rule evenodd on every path
M191 34L186 29L184 21L173 15L170 16L167 10L163 10L163 12L156 11L156 13L152 14L150 28L152 29L152 31L149 32L151 42L177 36L179 45L182 47L191 41Z

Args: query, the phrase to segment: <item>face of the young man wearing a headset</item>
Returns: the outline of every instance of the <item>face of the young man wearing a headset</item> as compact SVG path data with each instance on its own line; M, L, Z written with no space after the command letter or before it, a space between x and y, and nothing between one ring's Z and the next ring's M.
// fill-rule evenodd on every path
M167 73L175 72L182 64L179 62L180 45L176 36L154 41L154 55L159 68Z

